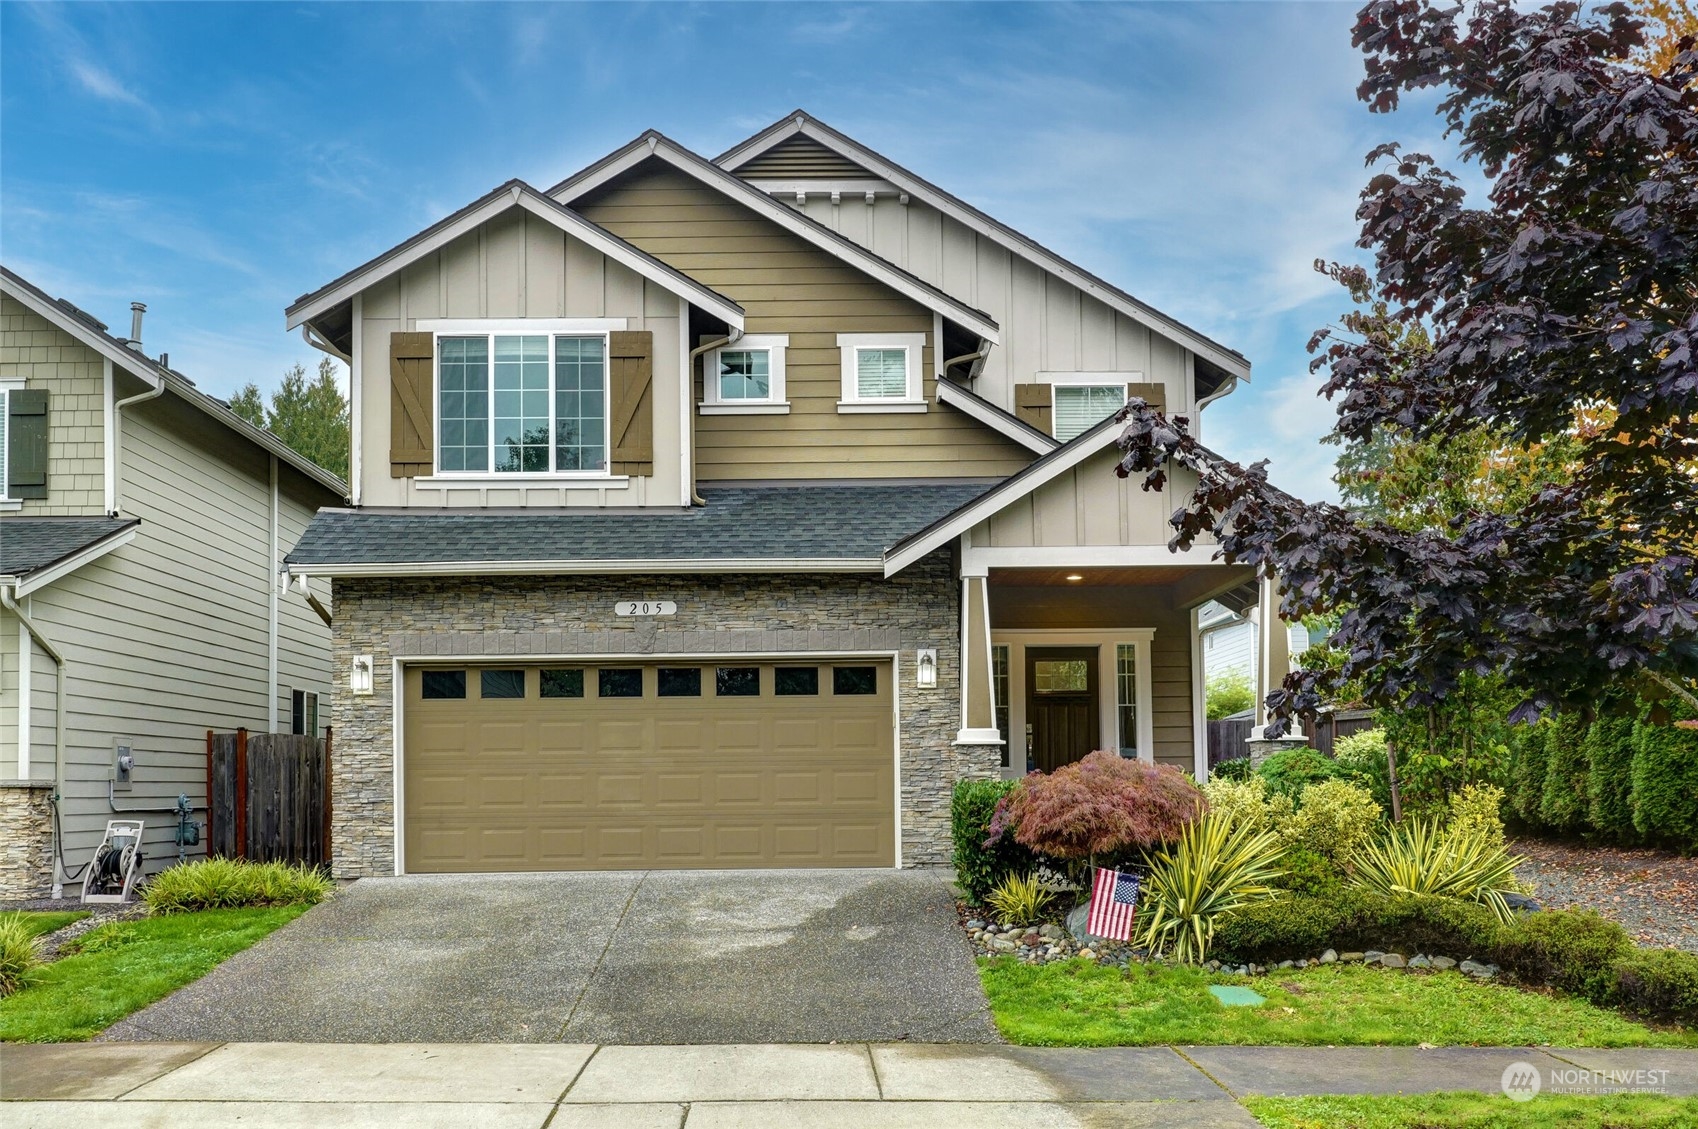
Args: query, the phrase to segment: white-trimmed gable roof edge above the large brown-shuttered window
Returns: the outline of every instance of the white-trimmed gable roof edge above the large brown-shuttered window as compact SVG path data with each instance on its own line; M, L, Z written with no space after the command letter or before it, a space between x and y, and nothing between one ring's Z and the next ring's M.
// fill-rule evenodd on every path
M608 258L630 267L655 285L664 287L666 290L671 290L672 294L708 311L720 321L742 329L742 306L730 301L723 294L710 290L689 275L667 267L654 255L627 243L606 227L584 219L559 200L537 192L537 188L531 188L523 180L509 180L504 185L498 185L486 195L481 195L452 216L445 216L411 239L397 243L377 258L355 267L335 282L329 282L311 294L302 294L289 306L287 311L284 311L287 328L294 329L295 326L341 306L360 290L370 287L374 282L387 278L397 270L416 263L436 248L475 231L496 216L516 207L548 221L565 234L588 243Z

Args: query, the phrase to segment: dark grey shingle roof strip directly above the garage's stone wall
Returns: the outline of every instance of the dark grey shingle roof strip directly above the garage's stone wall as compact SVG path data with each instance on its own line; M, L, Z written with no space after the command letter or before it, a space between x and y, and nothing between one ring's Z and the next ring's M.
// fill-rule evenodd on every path
M708 487L657 511L323 509L292 565L516 560L878 560L990 484Z

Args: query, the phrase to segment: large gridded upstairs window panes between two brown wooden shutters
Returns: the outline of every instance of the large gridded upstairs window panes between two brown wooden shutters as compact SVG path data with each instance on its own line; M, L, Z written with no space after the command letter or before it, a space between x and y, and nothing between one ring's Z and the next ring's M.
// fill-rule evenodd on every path
M606 470L604 334L455 334L436 345L438 472Z

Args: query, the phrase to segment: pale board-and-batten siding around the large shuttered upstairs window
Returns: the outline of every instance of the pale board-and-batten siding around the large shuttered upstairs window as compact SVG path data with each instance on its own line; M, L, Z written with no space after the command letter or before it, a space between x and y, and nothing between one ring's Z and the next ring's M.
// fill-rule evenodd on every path
M688 304L528 212L506 212L360 294L362 506L681 506ZM654 475L628 484L503 482L441 487L389 474L389 334L438 317L623 317L654 333ZM431 406L436 416L436 406ZM499 479L499 475L492 475Z

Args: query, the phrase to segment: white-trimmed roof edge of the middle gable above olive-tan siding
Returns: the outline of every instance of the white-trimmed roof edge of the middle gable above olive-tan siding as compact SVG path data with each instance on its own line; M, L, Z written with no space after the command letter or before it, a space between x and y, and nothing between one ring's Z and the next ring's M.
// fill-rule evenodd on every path
M713 161L696 156L684 146L654 129L644 132L625 148L601 158L589 168L572 173L555 187L548 188L548 195L562 204L571 204L572 200L599 188L615 177L630 171L650 158L666 161L684 175L728 195L759 216L773 221L779 227L784 227L791 234L800 236L822 251L827 251L851 267L859 268L863 273L883 282L891 290L914 299L925 309L942 314L949 321L964 326L992 345L1002 343L997 319L985 311L973 309L966 302L961 302L954 295L934 287L924 278L912 275L890 260L874 255L854 239L837 234L817 219L779 204L754 185L734 177Z

